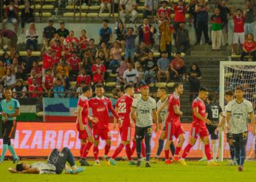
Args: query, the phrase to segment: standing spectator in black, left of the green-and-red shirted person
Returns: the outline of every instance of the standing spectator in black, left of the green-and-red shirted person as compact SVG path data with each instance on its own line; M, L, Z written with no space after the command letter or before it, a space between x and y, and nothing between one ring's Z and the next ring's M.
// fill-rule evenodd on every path
M211 44L208 36L208 11L209 7L205 0L200 0L199 4L195 6L197 12L197 43L200 44L202 32L205 37L205 42Z

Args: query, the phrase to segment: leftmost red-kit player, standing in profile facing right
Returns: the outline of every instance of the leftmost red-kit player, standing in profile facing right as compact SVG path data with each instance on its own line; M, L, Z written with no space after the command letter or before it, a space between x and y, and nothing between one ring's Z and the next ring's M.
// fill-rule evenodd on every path
M89 100L88 98L92 95L91 86L83 87L83 95L78 99L78 119L76 122L76 127L78 129L78 138L80 139L80 165L91 166L87 161L86 157L94 143L94 138L92 137L92 132L89 127L89 120L91 122L97 123L98 118L89 116ZM86 143L86 141L88 141Z

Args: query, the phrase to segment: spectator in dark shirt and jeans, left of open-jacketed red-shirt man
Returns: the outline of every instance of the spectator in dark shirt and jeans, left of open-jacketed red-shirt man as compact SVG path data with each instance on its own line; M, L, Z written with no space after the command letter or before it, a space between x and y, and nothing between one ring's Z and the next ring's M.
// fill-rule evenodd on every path
M125 36L126 45L124 51L124 60L128 62L130 58L130 62L134 63L135 58L135 39L138 36L138 30L136 29L135 34L133 34L134 29L128 28L127 35Z

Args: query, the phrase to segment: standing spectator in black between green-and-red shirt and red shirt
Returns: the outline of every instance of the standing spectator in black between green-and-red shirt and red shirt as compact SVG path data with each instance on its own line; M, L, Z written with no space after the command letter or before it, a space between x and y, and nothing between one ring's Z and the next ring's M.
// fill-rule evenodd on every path
M217 7L220 11L220 16L222 17L222 34L225 37L225 44L227 44L228 41L228 20L227 15L231 15L230 9L227 7L227 1L225 0L217 0Z

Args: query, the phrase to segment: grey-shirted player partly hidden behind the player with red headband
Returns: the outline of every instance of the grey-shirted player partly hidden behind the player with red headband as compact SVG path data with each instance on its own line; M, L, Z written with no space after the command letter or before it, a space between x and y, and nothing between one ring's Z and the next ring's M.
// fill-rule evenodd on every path
M165 143L165 120L167 118L167 114L168 114L168 96L167 96L167 88L166 87L159 87L158 91L157 91L157 98L159 98L158 102L157 102L157 119L158 119L158 123L162 122L162 132L161 135L159 136L159 140L158 140L158 148L157 148L157 154L154 158L151 159L151 163L157 163L158 162L158 158L162 152L162 149L164 148L164 143ZM161 106L164 106L164 108L162 109L162 111L159 111L159 108L161 108ZM170 144L170 151L172 152L173 156L175 153L175 146L173 144L173 142Z

